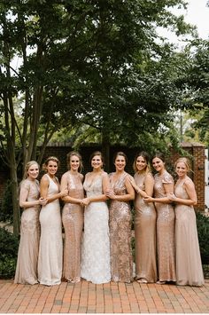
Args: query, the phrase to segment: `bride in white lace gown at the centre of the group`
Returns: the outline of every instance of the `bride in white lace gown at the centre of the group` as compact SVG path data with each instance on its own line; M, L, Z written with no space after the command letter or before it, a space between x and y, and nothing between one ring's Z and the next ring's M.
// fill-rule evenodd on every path
M109 177L103 168L103 157L95 152L90 157L93 170L86 174L83 187L84 233L81 248L81 278L95 284L111 280L109 211L104 192L109 189Z

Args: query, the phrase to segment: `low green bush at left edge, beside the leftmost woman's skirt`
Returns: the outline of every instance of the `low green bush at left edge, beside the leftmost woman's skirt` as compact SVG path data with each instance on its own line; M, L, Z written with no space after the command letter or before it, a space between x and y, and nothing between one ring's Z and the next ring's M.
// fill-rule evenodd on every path
M0 228L0 279L12 278L18 256L19 239L4 228Z

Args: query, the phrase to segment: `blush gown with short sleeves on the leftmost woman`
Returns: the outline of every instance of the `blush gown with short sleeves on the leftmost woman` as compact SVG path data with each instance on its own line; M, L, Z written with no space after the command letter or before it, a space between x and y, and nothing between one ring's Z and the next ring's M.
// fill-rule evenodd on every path
M39 183L24 179L21 187L27 189L27 201L39 199ZM21 189L21 188L20 188ZM37 281L38 248L40 240L40 206L26 208L22 212L18 262L14 283L35 284Z

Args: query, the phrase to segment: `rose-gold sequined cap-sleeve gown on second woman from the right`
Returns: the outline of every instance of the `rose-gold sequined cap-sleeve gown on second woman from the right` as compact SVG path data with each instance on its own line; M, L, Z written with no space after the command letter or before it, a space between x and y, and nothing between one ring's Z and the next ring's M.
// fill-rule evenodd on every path
M166 197L164 185L174 184L173 177L165 170L155 175L155 198ZM174 208L171 203L155 202L157 209L157 256L159 281L175 281L174 261Z

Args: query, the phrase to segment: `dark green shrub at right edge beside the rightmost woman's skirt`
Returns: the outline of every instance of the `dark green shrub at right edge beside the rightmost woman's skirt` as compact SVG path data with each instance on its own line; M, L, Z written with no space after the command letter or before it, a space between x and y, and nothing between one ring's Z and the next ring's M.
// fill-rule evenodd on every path
M209 264L209 217L197 212L197 233L202 264Z

